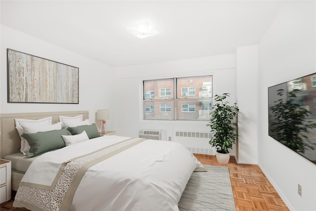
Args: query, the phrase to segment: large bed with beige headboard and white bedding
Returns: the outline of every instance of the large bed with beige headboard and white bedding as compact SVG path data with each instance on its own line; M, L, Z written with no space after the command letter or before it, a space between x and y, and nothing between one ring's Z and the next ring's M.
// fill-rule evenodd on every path
M118 135L90 138L90 124L68 127L68 134L64 128L25 132L23 137L31 140L32 146L41 135L57 140L55 135L60 134L68 145L45 153L33 147L31 154L39 155L31 158L30 152L29 156L19 152L21 139L15 119L51 116L54 125L60 116L78 115L83 116L82 121L88 119L87 111L1 114L1 158L12 161L15 207L35 211L174 211L192 172L205 170L181 144ZM87 129L73 133L79 127ZM88 139L83 140L82 134Z

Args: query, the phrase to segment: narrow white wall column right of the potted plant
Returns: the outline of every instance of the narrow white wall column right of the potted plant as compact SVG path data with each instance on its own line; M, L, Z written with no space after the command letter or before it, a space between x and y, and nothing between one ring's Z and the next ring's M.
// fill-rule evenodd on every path
M258 45L236 50L237 163L258 164Z

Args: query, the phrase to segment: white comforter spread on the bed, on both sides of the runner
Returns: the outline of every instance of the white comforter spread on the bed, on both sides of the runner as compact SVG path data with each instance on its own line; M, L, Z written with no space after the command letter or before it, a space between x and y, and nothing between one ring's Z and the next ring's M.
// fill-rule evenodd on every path
M49 186L62 163L124 139L102 136L45 153L22 181ZM201 167L179 143L146 140L90 167L69 211L177 211L192 172Z

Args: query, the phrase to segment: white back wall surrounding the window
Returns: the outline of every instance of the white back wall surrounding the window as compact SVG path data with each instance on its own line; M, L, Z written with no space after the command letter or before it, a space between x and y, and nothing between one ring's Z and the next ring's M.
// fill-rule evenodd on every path
M137 136L141 128L165 129L173 141L186 147L210 148L208 138L176 138L175 131L209 132L208 121L152 121L142 116L142 81L183 76L213 75L215 94L231 93L230 102L234 103L235 92L235 54L185 59L155 64L136 65L116 68L118 71L118 98L116 130L121 135ZM214 151L215 153L215 151ZM235 155L235 149L231 151Z

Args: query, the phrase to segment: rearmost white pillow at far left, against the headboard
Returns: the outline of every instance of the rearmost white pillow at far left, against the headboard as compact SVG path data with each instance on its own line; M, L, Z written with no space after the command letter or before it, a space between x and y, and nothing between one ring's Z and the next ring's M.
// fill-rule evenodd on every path
M23 128L21 127L21 123L25 125L33 125L33 126L46 126L46 125L51 125L52 122L52 117L45 117L39 120L27 120L27 119L14 119L15 121L15 128L17 129L20 137L21 137L21 148L20 151L24 154L27 155L29 152L30 146L29 143L25 138L23 138L21 135L24 133Z

